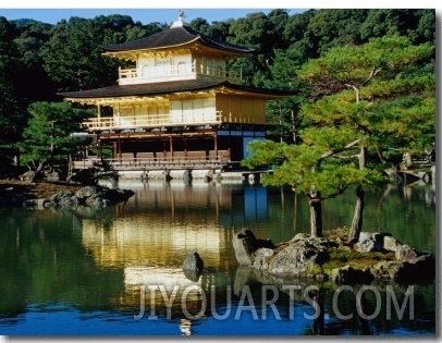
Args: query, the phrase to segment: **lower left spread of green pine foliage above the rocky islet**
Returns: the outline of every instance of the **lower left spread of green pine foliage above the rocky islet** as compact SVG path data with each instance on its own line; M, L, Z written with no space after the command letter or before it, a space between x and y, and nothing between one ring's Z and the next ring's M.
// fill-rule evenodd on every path
M321 130L317 132L327 135ZM271 164L273 172L263 175L263 184L290 185L304 194L309 194L314 187L323 198L334 197L352 185L370 187L380 180L378 171L360 170L354 160L343 162L334 155L324 158L332 149L344 150L341 142L335 142L333 146L331 143L287 145L271 140L251 142L248 149L253 154L243 161L243 166L256 168Z

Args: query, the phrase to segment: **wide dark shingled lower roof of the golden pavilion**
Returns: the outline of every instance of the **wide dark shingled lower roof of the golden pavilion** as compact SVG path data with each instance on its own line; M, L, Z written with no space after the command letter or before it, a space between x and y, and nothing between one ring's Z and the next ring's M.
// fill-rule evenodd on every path
M155 96L167 95L176 91L197 91L205 89L213 89L218 87L226 87L236 90L249 91L257 95L269 97L274 96L290 96L293 94L274 91L268 89L260 89L254 87L246 87L241 85L231 84L228 81L202 81L202 79L187 79L174 81L152 84L137 84L137 85L115 85L105 88L96 88L90 90L60 93L59 95L71 99L93 99L93 98L111 98L111 97L128 97L128 96Z

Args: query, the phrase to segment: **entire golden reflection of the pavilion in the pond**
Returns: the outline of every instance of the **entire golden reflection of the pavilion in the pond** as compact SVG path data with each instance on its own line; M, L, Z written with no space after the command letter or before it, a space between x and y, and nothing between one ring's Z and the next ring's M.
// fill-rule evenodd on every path
M244 192L242 186L206 183L185 186L181 182L138 182L136 186L122 183L119 187L132 188L134 197L124 206L112 208L112 217L107 221L83 219L83 246L98 266L123 270L125 291L118 299L119 306L136 315L142 287L145 289L145 319L152 302L158 316L167 315L160 290L152 296L149 285L163 286L168 296L180 286L171 307L172 317L179 320L183 334L192 334L192 320L183 314L183 292L195 285L210 301L214 285L216 304L220 305L220 313L225 311L226 289L234 290L231 271L237 266L231 228L237 218L240 229L246 218L255 218L258 212L265 216L267 198L253 188ZM194 252L201 256L206 268L197 281L181 269L185 257ZM195 291L185 294L184 302L191 315L201 309L200 294Z

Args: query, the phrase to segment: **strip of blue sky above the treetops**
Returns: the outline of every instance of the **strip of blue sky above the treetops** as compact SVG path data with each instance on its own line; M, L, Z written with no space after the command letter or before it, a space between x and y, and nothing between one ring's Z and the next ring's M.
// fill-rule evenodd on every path
M1 5L0 5L1 7ZM269 13L269 9L185 9L184 21L189 23L196 17L202 17L209 23L225 21L229 19L244 17L248 13ZM151 22L172 23L176 20L175 9L1 9L0 16L9 21L16 19L34 19L44 23L57 24L61 20L71 16L91 19L97 15L124 14L143 24ZM291 10L290 14L298 13L299 10Z

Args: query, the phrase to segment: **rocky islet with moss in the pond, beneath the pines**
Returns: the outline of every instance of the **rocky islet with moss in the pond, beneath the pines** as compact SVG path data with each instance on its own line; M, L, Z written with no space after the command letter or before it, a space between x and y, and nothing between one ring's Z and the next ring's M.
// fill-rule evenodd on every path
M275 278L331 279L336 283L434 279L432 254L416 252L391 234L379 232L361 232L355 245L347 245L342 231L326 237L298 233L288 242L273 245L243 229L234 236L233 247L241 266Z

